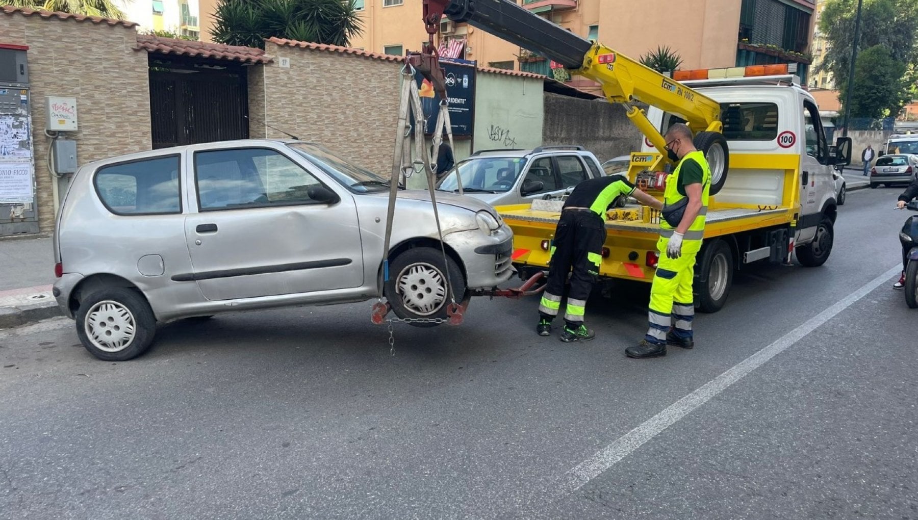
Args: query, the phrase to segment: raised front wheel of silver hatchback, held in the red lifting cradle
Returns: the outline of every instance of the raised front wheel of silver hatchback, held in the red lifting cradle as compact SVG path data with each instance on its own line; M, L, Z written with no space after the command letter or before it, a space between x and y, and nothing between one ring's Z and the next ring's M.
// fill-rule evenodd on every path
M446 270L453 282L458 304L465 296L465 277L456 262L440 249L412 248L399 254L389 265L386 299L392 311L405 320L447 319L446 307L452 303ZM437 326L436 322L411 322L413 326Z

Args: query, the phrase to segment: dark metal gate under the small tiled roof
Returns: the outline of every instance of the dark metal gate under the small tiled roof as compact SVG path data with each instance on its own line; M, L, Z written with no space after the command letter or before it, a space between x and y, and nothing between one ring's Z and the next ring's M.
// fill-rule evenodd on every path
M150 69L153 149L249 138L248 71Z

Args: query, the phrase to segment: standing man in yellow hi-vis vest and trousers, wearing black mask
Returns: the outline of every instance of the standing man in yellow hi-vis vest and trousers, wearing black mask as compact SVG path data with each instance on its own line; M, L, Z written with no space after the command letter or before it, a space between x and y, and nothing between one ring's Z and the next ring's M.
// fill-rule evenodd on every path
M656 242L660 260L650 289L647 313L650 324L644 339L636 347L625 349L630 358L666 356L667 344L683 349L695 346L691 327L695 317L692 282L695 257L704 238L711 167L704 154L695 149L691 130L682 123L669 127L666 132L666 153L670 160L678 160L678 165L666 179L666 204L660 219L660 238ZM675 326L672 326L674 320Z

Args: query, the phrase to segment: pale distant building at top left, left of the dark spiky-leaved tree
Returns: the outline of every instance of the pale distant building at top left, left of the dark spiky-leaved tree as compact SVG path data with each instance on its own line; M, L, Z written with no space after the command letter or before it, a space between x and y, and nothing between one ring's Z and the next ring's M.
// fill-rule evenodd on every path
M177 36L200 39L198 0L117 0L126 17L140 30L165 30Z

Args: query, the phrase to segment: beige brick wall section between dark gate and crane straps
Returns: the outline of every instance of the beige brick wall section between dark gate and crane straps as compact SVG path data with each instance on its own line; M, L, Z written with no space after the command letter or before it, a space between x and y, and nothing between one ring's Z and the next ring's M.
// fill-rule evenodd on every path
M265 51L274 62L250 72L252 138L285 138L254 120L263 117L272 127L322 144L388 177L401 63L271 41L265 42ZM281 58L290 59L289 68L280 67Z

